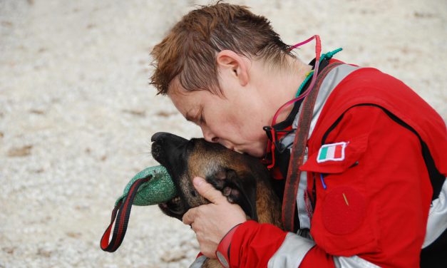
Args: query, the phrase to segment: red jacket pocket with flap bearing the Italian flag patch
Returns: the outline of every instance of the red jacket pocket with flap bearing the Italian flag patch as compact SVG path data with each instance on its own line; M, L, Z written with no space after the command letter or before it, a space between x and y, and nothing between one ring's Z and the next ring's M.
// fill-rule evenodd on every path
M336 256L377 252L376 207L365 189L362 163L368 135L332 145L339 144L344 145L342 154L332 152L328 157L320 149L300 167L316 185L312 237L326 252Z

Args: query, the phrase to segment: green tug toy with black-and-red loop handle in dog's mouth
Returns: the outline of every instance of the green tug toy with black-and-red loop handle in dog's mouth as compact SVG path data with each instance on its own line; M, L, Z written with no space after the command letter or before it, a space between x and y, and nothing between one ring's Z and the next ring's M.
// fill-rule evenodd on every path
M101 249L115 252L120 247L127 230L132 205L158 205L173 199L176 195L174 182L163 165L145 168L138 172L125 186L123 195L115 202L111 224L101 237ZM109 241L113 222L115 227L112 239Z

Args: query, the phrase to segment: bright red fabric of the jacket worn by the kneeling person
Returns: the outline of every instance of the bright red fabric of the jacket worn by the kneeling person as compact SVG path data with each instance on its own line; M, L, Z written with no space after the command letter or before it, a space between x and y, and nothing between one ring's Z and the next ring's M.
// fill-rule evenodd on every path
M322 145L340 142L346 143L343 160L317 162ZM300 167L307 171L307 198L315 202L315 246L297 249L305 254L299 267L334 267L334 256L419 267L433 195L423 145L447 177L446 125L430 105L374 68L344 78L324 104ZM230 267L267 267L286 235L245 222L232 237Z

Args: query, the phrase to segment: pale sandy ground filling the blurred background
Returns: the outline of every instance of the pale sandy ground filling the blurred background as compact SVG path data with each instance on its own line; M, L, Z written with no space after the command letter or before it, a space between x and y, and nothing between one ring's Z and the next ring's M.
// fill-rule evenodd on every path
M447 118L447 1L234 2L286 43L319 33L324 51L400 78ZM197 3L0 0L0 267L192 262L195 235L157 207L133 207L114 254L99 240L126 182L155 165L150 136L201 135L148 86L149 51Z

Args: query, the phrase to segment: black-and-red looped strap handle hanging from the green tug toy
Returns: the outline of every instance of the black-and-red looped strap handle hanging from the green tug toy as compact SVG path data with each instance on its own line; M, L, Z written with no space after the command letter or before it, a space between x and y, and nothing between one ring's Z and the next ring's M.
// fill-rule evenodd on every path
M108 225L106 232L104 232L103 237L101 237L101 249L103 249L103 251L115 252L115 250L120 247L120 244L121 242L123 242L124 239L125 231L128 227L133 198L138 191L138 187L140 187L144 182L150 180L151 177L152 175L148 175L148 177L143 177L139 180L135 180L135 182L133 182L133 185L130 186L128 195L124 199L120 200L118 204L116 204L113 208L111 224ZM116 217L117 212L118 217ZM109 242L113 222L115 222L115 228L113 228L113 236L111 241Z

